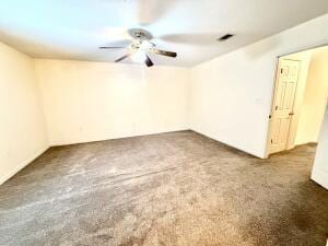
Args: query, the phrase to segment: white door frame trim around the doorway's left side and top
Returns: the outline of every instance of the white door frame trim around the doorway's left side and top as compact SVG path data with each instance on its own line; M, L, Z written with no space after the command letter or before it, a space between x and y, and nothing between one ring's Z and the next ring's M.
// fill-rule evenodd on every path
M311 49L316 49L316 48L321 48L321 47L326 47L328 46L328 43L321 43L321 44L317 44L317 45L305 45L302 48L295 48L295 49L291 49L291 51L286 51L285 54L279 55L276 57L276 71L274 71L274 77L273 77L273 86L272 86L272 92L271 92L271 104L270 104L270 115L268 116L269 120L268 120L268 125L267 125L267 141L266 141L266 148L265 148L265 159L268 159L270 153L269 153L269 148L270 148L270 137L271 137L271 128L272 128L272 120L271 120L271 116L272 116L272 108L273 108L273 103L274 103L274 96L276 96L276 89L278 85L278 71L279 71L279 60L282 57L289 56L289 55L293 55L296 52L302 52L302 51L306 51L306 50L311 50ZM290 130L289 130L290 132Z

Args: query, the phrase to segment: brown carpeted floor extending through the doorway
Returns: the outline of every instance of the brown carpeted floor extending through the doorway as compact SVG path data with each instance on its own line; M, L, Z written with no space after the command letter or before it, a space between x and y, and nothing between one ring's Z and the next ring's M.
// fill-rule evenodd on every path
M0 186L0 245L324 246L314 152L259 160L192 131L51 148Z

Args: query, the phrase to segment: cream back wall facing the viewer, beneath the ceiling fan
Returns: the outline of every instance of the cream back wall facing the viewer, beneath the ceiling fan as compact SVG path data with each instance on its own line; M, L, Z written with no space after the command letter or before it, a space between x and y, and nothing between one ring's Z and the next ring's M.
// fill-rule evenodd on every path
M188 128L186 68L35 62L51 144Z

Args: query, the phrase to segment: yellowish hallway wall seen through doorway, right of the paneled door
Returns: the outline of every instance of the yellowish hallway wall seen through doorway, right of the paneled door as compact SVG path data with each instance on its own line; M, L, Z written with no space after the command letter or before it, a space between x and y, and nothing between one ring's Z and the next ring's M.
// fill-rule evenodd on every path
M314 51L303 96L295 143L317 142L328 96L328 48Z

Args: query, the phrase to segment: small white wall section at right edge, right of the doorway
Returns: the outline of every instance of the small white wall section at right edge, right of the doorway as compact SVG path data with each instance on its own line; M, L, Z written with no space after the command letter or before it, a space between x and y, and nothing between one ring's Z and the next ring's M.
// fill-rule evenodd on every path
M320 131L312 179L328 189L328 107Z

